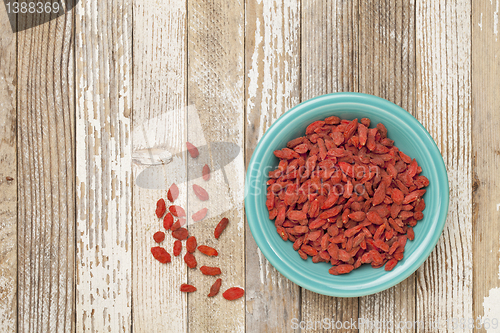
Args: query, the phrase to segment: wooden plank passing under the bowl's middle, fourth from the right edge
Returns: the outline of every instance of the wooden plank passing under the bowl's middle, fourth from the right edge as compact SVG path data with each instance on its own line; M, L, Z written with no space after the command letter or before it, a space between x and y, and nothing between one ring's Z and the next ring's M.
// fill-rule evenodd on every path
M358 90L358 1L302 2L302 101L314 96ZM357 298L337 298L302 289L302 319L355 322ZM335 330L323 326L315 332Z

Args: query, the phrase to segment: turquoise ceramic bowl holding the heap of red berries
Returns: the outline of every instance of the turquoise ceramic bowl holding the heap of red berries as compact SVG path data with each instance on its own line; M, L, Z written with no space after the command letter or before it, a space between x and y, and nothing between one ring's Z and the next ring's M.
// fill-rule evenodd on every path
M292 242L284 242L269 220L266 201L266 181L278 159L273 151L305 134L308 124L336 115L352 120L368 117L372 126L382 122L395 145L422 167L430 185L424 196L424 219L414 228L415 240L408 241L405 258L386 272L369 265L349 274L328 273L328 263L304 261L293 250ZM358 297L388 289L410 276L430 255L444 228L448 212L448 176L434 140L425 128L408 112L379 97L359 93L336 93L305 101L283 114L259 141L248 166L245 185L245 212L252 235L269 262L285 277L319 294L338 297Z

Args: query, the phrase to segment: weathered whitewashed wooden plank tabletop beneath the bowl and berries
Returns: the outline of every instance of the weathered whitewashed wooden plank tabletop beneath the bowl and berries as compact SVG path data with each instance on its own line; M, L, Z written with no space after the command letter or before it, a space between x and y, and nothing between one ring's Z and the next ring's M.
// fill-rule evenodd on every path
M498 13L499 0L81 0L41 25L41 14L20 17L19 28L35 27L13 33L17 18L0 4L0 331L289 332L293 318L367 318L452 332L430 323L500 320ZM259 138L292 106L337 91L413 114L450 182L429 259L360 298L288 281L244 221L245 165ZM239 154L227 166L213 150L194 162L186 140L229 142ZM178 172L155 189L135 182L143 168L133 155L148 142L176 154ZM199 162L234 187L211 195L233 196L231 242L218 246L226 286L246 290L236 302L181 295L181 283L211 280L149 253L167 184L181 185L188 216L199 208L189 185ZM190 233L213 242L220 216Z

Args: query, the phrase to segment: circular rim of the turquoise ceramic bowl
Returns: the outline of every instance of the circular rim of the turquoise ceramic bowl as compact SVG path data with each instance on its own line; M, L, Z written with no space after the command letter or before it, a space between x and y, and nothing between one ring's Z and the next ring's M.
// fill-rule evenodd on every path
M441 205L441 210L439 211L439 215L437 218L435 218L435 233L431 235L430 241L426 242L425 244L429 245L427 246L422 252L420 253L414 253L414 255L419 254L419 256L412 262L410 263L409 269L406 269L402 271L399 275L396 275L394 278L383 282L379 285L376 286L371 286L371 287L362 287L360 289L356 290L342 290L342 289L333 289L333 290L325 290L321 289L318 286L315 285L304 285L302 281L298 279L298 277L295 276L294 271L291 270L289 265L287 265L285 262L281 261L278 255L273 251L269 243L266 241L263 233L261 232L261 229L258 228L259 226L259 219L257 217L256 213L256 206L257 206L257 201L259 200L259 196L253 194L252 191L249 190L248 184L251 183L251 175L253 172L258 170L258 160L260 160L263 156L263 154L266 153L268 145L265 145L266 141L270 140L269 138L272 138L273 135L275 135L275 132L279 132L280 129L279 127L281 126L282 123L287 121L290 117L293 117L294 115L299 115L301 111L311 111L316 109L317 107L324 106L324 104L317 105L318 103L322 102L327 102L327 105L334 105L334 104L340 104L340 103L349 103L349 104L357 104L358 106L369 106L369 107L378 107L381 109L385 109L391 114L395 115L397 118L399 118L401 121L405 123L411 123L412 126L416 126L418 129L418 134L423 135L424 141L426 141L426 149L427 153L429 156L431 156L431 160L433 161L433 165L435 165L435 170L441 169L445 177L441 177L438 181L439 184L437 184L438 188L442 189L442 194L440 196L440 201L442 203ZM316 105L316 106L315 106ZM416 129L416 131L417 131ZM431 144L427 144L431 143ZM449 208L449 184L448 184L448 174L446 170L446 166L444 164L442 155L435 143L435 141L432 139L431 135L429 132L425 129L425 127L417 120L415 119L409 112L401 108L400 106L377 96L374 95L369 95L369 94L363 94L363 93L354 93L354 92L340 92L340 93L331 93L331 94L325 94L325 95L320 95L316 96L314 98L308 99L290 110L286 111L284 114L282 114L264 133L262 138L259 140L252 157L250 159L250 162L248 164L247 168L247 174L245 177L245 214L247 217L247 222L250 227L250 231L252 233L252 236L257 243L257 246L259 247L260 251L264 254L266 259L271 263L273 267L275 267L283 276L285 276L287 279L290 281L298 284L299 286L308 289L310 291L327 295L327 296L336 296L336 297L360 297L360 296L366 296L366 295L371 295L378 293L380 291L386 290L390 287L393 287L397 284L399 284L401 281L405 280L408 278L411 274L413 274L424 262L427 260L427 258L430 256L431 252L434 250L436 247L436 244L441 237L441 234L443 233L443 229L446 223L446 217L448 214L448 208ZM424 239L425 240L425 239ZM408 258L410 258L409 256ZM333 278L333 275L332 275Z

